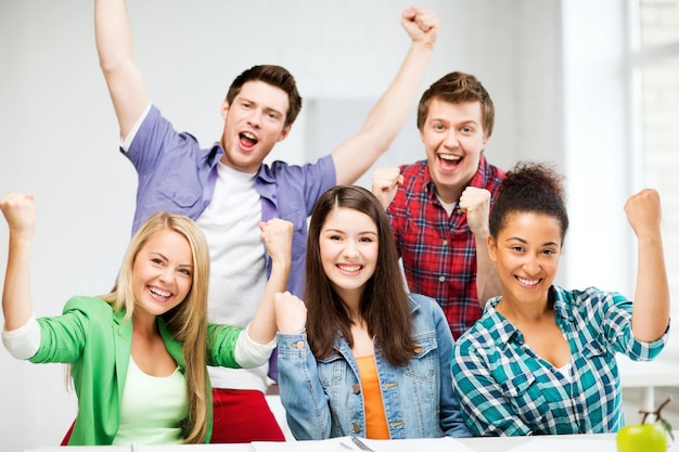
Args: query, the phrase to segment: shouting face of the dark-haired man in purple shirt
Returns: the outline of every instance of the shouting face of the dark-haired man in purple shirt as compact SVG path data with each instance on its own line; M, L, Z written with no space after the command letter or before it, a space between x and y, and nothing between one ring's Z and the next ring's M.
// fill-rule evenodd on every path
M289 98L285 91L264 81L247 81L230 105L221 106L225 119L221 163L239 171L255 173L276 143L283 140Z

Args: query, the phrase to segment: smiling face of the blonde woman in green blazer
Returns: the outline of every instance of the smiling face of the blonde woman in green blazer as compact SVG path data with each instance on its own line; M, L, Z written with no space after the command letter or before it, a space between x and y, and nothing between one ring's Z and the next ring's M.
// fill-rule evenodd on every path
M134 315L161 315L181 304L193 282L193 256L189 241L164 229L139 250L132 267Z

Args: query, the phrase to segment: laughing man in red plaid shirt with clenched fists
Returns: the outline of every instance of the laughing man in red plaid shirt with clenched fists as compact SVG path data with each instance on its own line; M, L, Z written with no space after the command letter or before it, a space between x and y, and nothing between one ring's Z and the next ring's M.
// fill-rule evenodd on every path
M450 73L422 94L418 128L426 160L373 173L411 292L435 298L457 339L500 295L488 258L488 214L504 171L484 150L495 108L476 79Z

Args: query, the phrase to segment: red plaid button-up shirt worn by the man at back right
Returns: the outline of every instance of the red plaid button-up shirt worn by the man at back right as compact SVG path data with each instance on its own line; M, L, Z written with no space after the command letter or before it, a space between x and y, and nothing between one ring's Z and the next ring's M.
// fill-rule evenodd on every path
M435 298L457 339L481 319L476 295L476 244L466 214L449 217L434 192L426 160L401 166L403 185L389 205L394 241L403 260L410 292ZM491 206L504 171L482 156L469 185L491 193Z

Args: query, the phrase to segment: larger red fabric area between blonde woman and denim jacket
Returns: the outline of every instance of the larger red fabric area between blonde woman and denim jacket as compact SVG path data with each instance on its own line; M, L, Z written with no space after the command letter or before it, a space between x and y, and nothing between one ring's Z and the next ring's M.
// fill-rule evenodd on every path
M213 388L213 404L209 442L285 441L262 392Z

